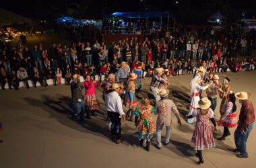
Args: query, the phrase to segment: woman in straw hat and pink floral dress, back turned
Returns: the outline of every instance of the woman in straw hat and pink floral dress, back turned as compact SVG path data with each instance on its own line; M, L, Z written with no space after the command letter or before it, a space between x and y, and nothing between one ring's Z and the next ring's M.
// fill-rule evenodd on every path
M214 120L214 112L210 109L211 101L207 97L203 97L198 101L199 109L194 110L193 114L187 116L187 118L197 117L195 124L195 130L191 139L191 142L195 144L195 150L197 150L196 156L199 157L198 164L203 163L202 151L205 147L214 147L214 135L209 120L215 126L215 131L218 130L216 122Z

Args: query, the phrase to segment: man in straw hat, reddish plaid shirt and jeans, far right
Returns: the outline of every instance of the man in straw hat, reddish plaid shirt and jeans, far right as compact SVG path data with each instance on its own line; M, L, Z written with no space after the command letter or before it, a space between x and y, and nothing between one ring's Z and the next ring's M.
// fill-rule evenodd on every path
M246 142L248 136L253 129L253 122L255 122L255 112L253 103L249 98L251 93L241 91L235 94L236 98L242 104L241 111L239 114L239 121L236 130L234 131L234 142L236 144L236 149L232 151L237 154L236 157L248 158L248 153L246 150Z

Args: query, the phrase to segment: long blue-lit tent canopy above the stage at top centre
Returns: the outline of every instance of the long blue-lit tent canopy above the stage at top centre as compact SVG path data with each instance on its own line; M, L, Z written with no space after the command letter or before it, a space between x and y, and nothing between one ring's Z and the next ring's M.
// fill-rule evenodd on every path
M141 12L114 12L106 17L124 17L124 18L158 18L168 17L169 11L141 11Z

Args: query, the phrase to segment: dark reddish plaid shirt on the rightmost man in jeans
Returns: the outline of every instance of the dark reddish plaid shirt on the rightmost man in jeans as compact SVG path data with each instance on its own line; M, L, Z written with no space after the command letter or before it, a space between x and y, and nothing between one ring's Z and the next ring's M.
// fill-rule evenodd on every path
M239 123L243 124L243 128L248 128L249 124L255 122L255 112L251 100L242 103L242 108L239 114Z

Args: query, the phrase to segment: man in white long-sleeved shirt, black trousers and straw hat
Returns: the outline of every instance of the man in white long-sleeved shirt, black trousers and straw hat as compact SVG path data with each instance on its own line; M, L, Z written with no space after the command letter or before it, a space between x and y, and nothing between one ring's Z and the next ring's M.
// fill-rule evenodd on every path
M121 119L125 120L125 113L122 108L122 100L120 95L123 93L123 85L113 83L113 91L106 95L106 111L111 121L111 134L116 144L123 142L121 139Z

